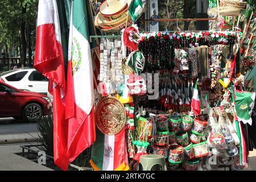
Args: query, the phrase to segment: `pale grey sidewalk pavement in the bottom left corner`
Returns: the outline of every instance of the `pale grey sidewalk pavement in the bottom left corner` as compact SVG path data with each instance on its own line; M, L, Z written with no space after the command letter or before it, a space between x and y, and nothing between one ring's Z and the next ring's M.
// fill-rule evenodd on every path
M0 171L53 171L14 153L22 152L20 145L0 145Z

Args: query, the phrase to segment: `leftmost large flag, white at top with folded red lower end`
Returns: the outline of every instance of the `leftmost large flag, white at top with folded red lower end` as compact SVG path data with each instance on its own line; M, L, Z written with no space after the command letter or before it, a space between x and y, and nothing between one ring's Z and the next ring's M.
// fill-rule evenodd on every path
M38 4L34 68L50 82L65 90L65 69L56 0L40 0Z

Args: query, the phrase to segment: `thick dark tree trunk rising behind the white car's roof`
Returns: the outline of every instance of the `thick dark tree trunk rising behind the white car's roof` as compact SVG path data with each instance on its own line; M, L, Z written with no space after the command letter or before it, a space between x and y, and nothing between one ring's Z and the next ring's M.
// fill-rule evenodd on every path
M24 14L26 14L26 8L22 7L22 20L20 22L20 39L22 44L22 52L20 55L20 62L22 67L26 67L26 56L27 56L27 42L26 42L26 22L24 21Z

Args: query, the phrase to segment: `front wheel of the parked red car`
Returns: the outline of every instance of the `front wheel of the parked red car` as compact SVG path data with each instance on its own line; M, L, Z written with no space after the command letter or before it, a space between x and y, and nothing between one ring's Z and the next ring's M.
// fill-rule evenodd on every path
M42 115L42 107L36 103L28 104L23 109L23 119L26 119L29 122L38 121L40 118L42 118Z

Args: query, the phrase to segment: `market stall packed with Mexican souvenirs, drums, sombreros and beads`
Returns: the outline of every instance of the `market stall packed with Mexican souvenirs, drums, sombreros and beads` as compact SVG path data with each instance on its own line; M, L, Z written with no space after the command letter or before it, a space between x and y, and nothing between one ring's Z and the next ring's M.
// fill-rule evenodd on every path
M119 35L91 37L100 40L94 169L143 169L151 154L168 170L249 166L253 1L209 2L208 31L177 32L140 32L142 1L102 3L96 27Z

